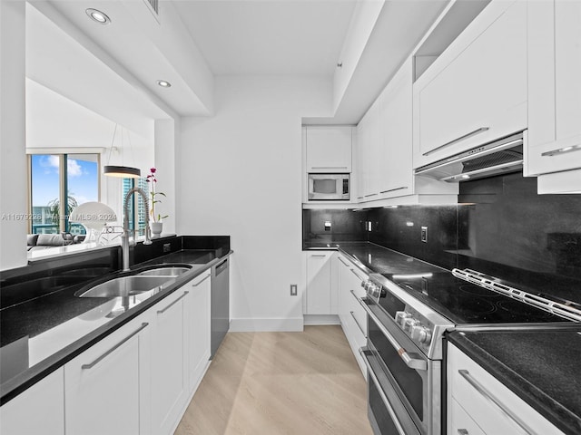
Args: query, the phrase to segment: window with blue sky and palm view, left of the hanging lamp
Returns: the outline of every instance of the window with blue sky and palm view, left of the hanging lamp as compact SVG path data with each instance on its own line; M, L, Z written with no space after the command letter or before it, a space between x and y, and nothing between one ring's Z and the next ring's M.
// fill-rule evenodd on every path
M30 155L31 233L85 233L68 217L76 206L99 200L99 158L99 154Z

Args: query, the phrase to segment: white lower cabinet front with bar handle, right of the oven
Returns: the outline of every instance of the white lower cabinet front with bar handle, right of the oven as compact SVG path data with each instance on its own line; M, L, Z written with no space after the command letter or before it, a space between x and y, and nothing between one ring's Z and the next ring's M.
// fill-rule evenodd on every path
M448 433L562 435L563 432L448 343Z

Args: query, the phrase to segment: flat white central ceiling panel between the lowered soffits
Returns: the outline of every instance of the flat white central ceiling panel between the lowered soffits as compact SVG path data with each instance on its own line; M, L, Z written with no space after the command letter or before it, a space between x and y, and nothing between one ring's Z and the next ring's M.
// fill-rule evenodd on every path
M332 75L355 0L172 0L214 74Z

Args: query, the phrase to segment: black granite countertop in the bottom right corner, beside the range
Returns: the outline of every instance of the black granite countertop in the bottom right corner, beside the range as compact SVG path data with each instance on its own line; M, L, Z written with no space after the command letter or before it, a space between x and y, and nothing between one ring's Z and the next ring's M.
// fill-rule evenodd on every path
M581 325L577 331L455 331L448 341L558 429L581 433Z

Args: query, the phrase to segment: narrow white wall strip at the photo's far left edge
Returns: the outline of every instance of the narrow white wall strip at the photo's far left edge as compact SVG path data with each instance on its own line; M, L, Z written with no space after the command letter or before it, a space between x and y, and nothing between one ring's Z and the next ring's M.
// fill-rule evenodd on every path
M0 64L0 269L9 269L26 264L25 2L0 1Z

